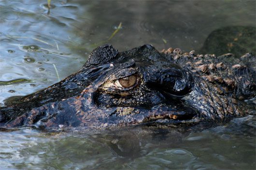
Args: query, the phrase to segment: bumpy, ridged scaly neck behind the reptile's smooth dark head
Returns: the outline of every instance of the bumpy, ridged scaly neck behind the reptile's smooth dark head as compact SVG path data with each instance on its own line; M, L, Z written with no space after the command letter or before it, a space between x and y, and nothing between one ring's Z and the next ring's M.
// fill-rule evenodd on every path
M218 57L195 55L194 51L181 54L180 49L163 52L193 73L198 88L184 99L201 114L213 121L229 121L249 112L241 100L256 94L254 56L248 53L235 59L232 54Z

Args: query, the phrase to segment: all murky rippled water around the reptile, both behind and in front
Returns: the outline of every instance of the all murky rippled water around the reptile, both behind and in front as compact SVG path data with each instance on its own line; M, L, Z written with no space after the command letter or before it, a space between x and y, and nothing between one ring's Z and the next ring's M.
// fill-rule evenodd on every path
M143 44L200 51L216 29L255 27L255 3L52 0L49 12L47 0L2 0L0 103L57 83L104 43L119 51ZM255 116L191 132L25 128L0 132L0 169L256 169L255 132Z

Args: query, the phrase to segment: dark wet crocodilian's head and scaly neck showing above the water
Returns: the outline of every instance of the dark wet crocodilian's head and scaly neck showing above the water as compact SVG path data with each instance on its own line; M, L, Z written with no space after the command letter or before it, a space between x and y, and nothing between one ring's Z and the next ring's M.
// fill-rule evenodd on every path
M118 52L100 46L77 73L0 108L0 127L111 129L133 125L217 124L250 113L255 57L158 52L144 45Z

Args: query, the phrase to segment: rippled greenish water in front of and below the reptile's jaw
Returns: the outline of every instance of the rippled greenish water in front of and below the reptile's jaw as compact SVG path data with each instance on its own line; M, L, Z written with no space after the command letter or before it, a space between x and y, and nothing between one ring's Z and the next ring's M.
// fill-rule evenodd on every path
M195 132L143 127L97 133L1 132L0 164L31 170L254 169L253 122L250 116Z

